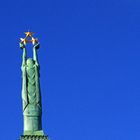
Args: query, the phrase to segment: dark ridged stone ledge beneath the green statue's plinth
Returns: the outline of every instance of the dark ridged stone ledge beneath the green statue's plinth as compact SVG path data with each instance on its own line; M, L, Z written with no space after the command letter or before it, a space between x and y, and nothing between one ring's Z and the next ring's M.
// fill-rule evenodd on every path
M39 135L22 135L20 140L48 140L48 137Z

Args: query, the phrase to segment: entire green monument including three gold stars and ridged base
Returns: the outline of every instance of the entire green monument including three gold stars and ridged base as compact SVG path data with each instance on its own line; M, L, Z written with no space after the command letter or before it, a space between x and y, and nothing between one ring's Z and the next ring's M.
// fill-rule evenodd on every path
M38 39L33 37L32 32L25 32L25 38L20 40L22 55L22 107L24 132L20 140L48 140L42 130L42 102L40 92L40 73L37 49ZM27 57L27 43L33 46L33 58Z

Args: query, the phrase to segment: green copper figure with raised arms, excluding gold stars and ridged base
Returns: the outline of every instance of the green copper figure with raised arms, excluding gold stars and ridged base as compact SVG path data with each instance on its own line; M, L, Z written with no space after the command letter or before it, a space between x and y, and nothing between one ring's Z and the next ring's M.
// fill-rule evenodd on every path
M23 42L20 43L20 47L23 50L21 70L24 133L43 133L39 63L37 57L39 43L33 46L33 58L27 58L26 47Z

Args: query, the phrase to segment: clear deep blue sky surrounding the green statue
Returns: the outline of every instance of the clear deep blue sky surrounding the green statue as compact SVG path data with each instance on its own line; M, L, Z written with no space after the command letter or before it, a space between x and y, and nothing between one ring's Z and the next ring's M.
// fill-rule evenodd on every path
M1 140L23 132L19 38L28 29L41 43L51 140L140 139L139 0L1 1Z

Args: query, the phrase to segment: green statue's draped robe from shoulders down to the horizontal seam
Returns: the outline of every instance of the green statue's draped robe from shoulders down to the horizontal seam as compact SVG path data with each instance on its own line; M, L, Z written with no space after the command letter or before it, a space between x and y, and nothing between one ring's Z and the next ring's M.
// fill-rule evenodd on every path
M33 67L22 65L22 100L23 114L25 116L41 116L41 98L39 84L39 66L34 64Z

